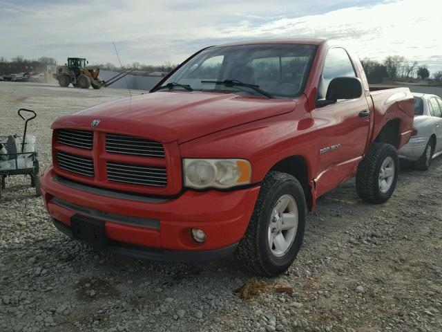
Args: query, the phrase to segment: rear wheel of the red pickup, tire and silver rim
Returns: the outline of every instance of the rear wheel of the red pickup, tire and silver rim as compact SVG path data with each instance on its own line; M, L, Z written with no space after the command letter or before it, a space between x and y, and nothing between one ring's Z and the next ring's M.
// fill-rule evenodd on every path
M356 190L363 201L384 203L392 196L399 173L398 152L393 145L373 143L358 165Z

